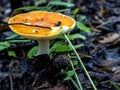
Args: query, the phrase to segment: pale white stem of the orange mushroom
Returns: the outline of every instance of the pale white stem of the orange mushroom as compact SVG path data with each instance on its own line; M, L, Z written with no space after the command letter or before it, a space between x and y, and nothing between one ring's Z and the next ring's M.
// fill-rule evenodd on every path
M38 53L41 54L49 54L49 40L38 40Z

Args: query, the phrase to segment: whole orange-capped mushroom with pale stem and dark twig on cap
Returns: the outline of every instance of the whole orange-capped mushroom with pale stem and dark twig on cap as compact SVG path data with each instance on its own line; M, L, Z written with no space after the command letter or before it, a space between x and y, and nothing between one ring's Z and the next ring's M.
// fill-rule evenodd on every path
M32 11L9 19L8 25L18 35L38 41L38 54L49 54L49 40L70 32L76 22L61 13Z

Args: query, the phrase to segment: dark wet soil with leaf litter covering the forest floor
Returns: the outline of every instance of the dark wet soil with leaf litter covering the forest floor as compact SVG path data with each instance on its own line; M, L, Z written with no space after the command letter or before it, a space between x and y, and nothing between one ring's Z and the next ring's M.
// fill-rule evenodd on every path
M33 5L32 0L21 1L20 6ZM91 29L88 35L75 27L71 34L81 33L87 39L75 39L72 43L85 44L77 51L97 89L116 90L110 81L120 85L120 1L70 1L75 4L71 10L79 9L75 15L76 21L86 16L87 19L81 20ZM13 11L18 7L11 8L8 0L0 0L0 42L6 41L6 37L13 34L5 24L9 17L20 13ZM35 41L14 43L10 48L0 51L0 90L76 90L71 81L64 81L65 74L61 74L62 70L71 69L66 53L54 53L53 58L40 55L28 59L27 52L36 45ZM15 51L17 57L9 56L9 50ZM73 52L70 54L74 56ZM84 90L93 90L81 65L75 68Z

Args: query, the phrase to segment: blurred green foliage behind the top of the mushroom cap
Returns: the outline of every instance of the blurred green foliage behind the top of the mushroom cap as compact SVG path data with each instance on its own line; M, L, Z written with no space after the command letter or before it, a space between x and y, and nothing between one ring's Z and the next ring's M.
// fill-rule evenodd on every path
M40 6L42 4L46 4L44 6ZM63 11L68 11L70 10L69 8L74 7L73 3L70 2L63 2L61 0L52 0L49 3L47 2L47 0L35 0L34 1L34 5L33 6L25 6L25 7L20 7L17 8L16 10L27 10L27 11L31 11L31 10L41 10L41 11L53 11L52 9L54 9L53 7L55 6L62 6L64 7L63 9L57 9L56 12L63 12Z

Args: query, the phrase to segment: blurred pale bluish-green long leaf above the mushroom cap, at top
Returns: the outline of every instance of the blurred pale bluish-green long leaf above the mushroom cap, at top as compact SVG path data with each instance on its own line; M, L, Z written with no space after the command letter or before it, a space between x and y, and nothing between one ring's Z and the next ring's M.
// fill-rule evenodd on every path
M58 5L58 6L65 6L65 7L74 7L73 3L62 2L62 1L51 1L48 5Z

